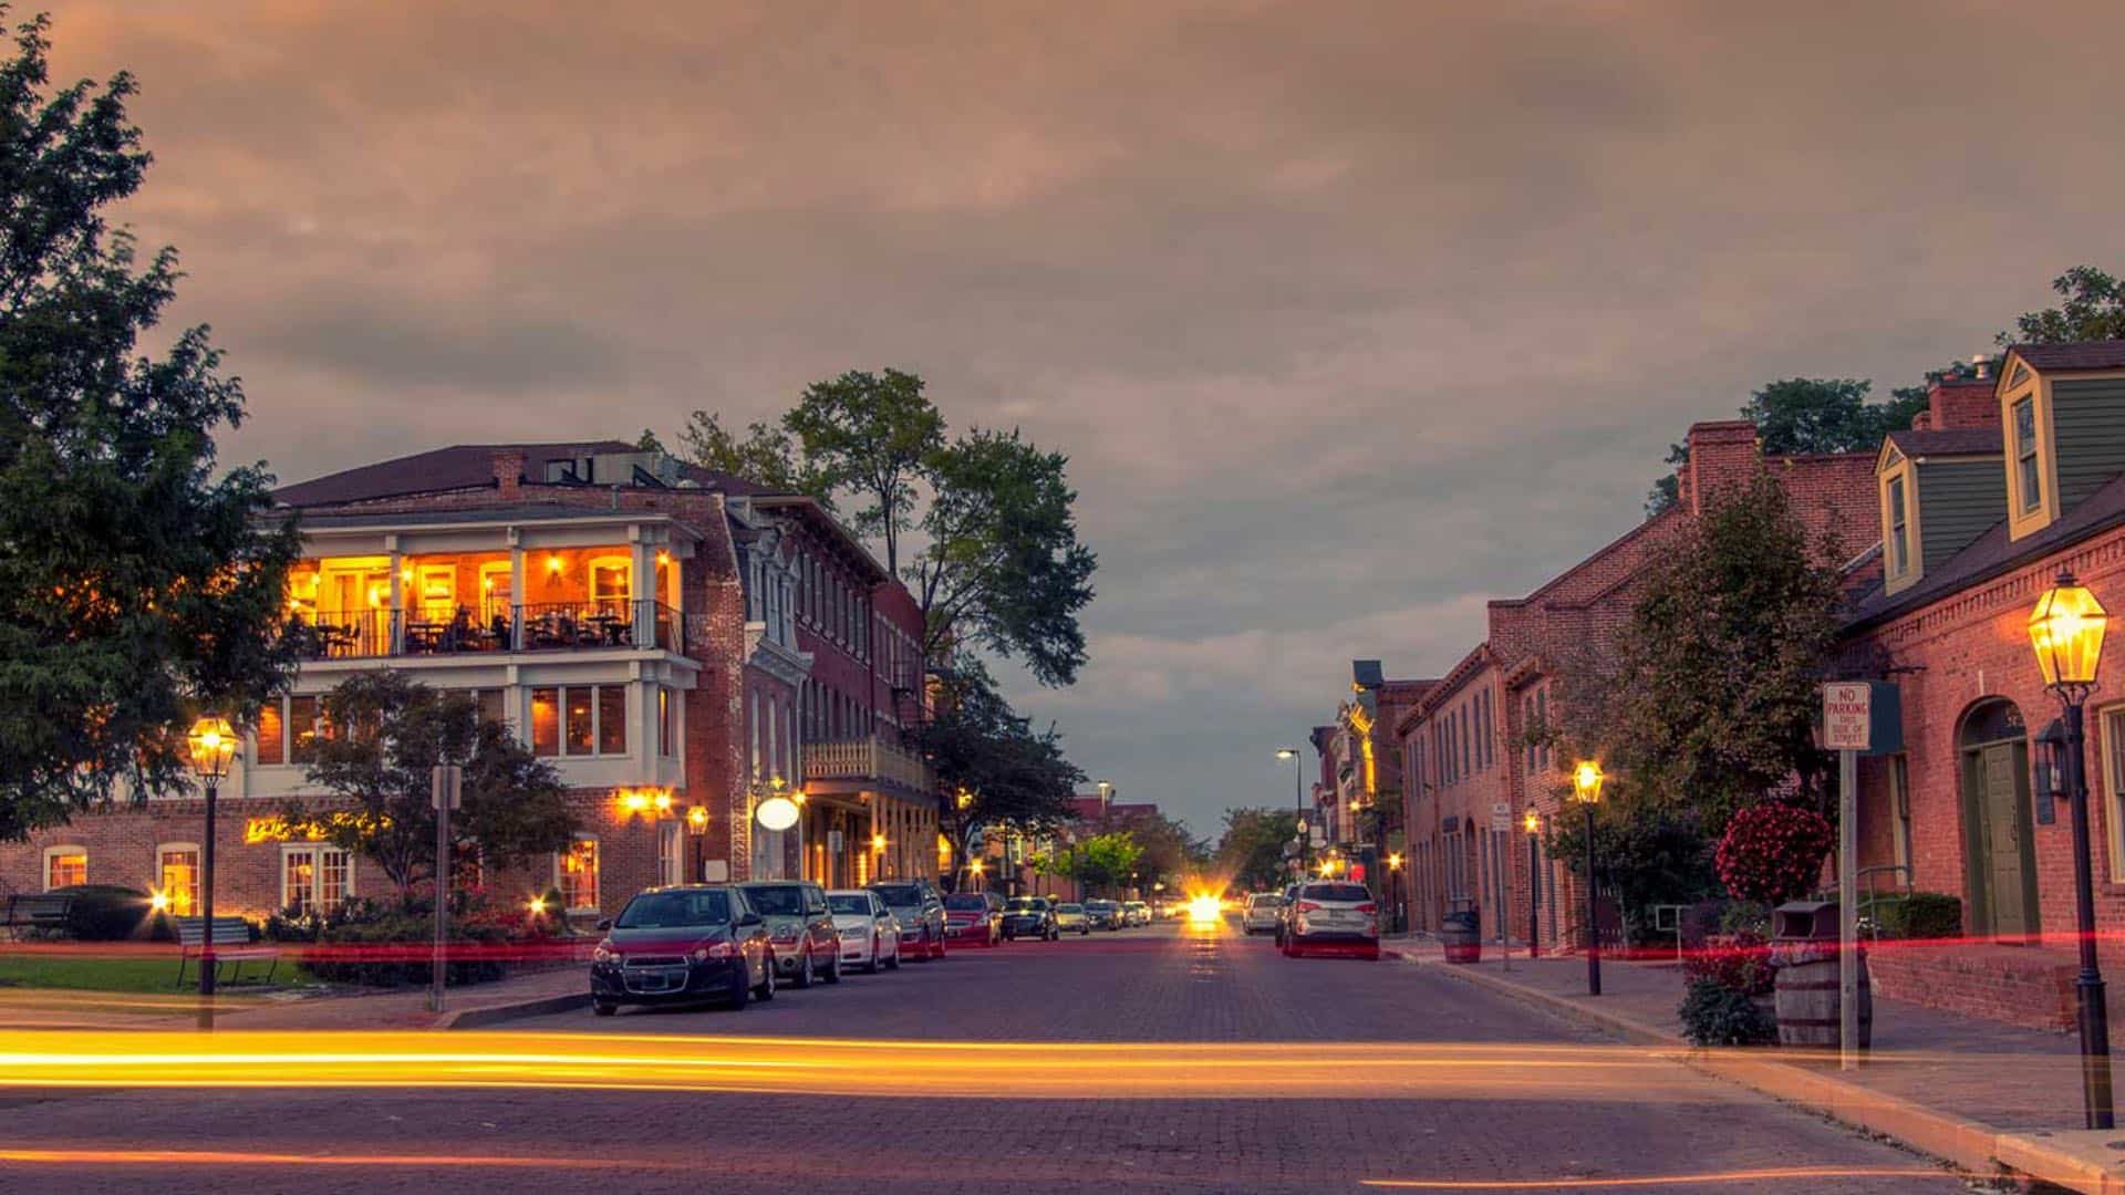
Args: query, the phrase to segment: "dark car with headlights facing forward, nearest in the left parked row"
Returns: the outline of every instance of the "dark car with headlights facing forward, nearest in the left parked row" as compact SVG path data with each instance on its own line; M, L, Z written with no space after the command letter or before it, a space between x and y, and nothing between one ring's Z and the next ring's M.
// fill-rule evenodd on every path
M680 885L635 893L591 950L591 1012L612 1016L623 1004L701 1004L744 1008L776 997L767 925L729 885Z

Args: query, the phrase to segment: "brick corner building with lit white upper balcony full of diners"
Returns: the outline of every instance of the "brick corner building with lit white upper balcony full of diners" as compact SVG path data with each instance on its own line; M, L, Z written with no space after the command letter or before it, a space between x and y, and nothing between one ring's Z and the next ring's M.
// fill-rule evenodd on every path
M805 751L808 734L824 748L899 723L910 706L869 700L854 676L890 659L905 683L916 629L899 583L810 500L580 442L436 449L291 485L276 502L304 536L289 617L306 659L221 785L217 912L387 893L368 859L289 840L276 817L289 802L336 804L304 768L332 734L319 700L376 668L472 693L570 785L576 844L487 876L495 891L559 889L572 914L593 916L701 874L842 882L876 868L869 838L854 861L820 851L837 825L824 810L844 797L867 808L863 825L935 840L926 774L890 770L886 753L814 768ZM788 831L761 827L774 795L810 806L814 772L820 808ZM0 846L0 887L132 885L183 912L198 897L202 812L151 797L81 814Z

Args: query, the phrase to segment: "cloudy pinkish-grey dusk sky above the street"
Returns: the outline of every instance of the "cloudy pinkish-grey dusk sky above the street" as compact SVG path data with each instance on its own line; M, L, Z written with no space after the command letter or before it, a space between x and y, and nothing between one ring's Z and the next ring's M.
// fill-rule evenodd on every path
M599 17L599 13L610 15ZM283 481L750 421L899 366L1071 455L1073 691L1213 834L1354 657L1430 676L1791 374L1878 389L2125 268L2089 4L53 6L134 70Z

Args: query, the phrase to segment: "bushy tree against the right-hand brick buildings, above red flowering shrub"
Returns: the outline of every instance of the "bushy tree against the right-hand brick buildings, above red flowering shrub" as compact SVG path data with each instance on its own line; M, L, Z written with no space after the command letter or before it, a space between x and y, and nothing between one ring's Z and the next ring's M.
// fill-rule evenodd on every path
M1634 802L1692 810L1711 836L1796 778L1821 806L1813 727L1840 559L1768 472L1717 502L1662 553L1615 640L1564 666L1568 751L1604 759Z

